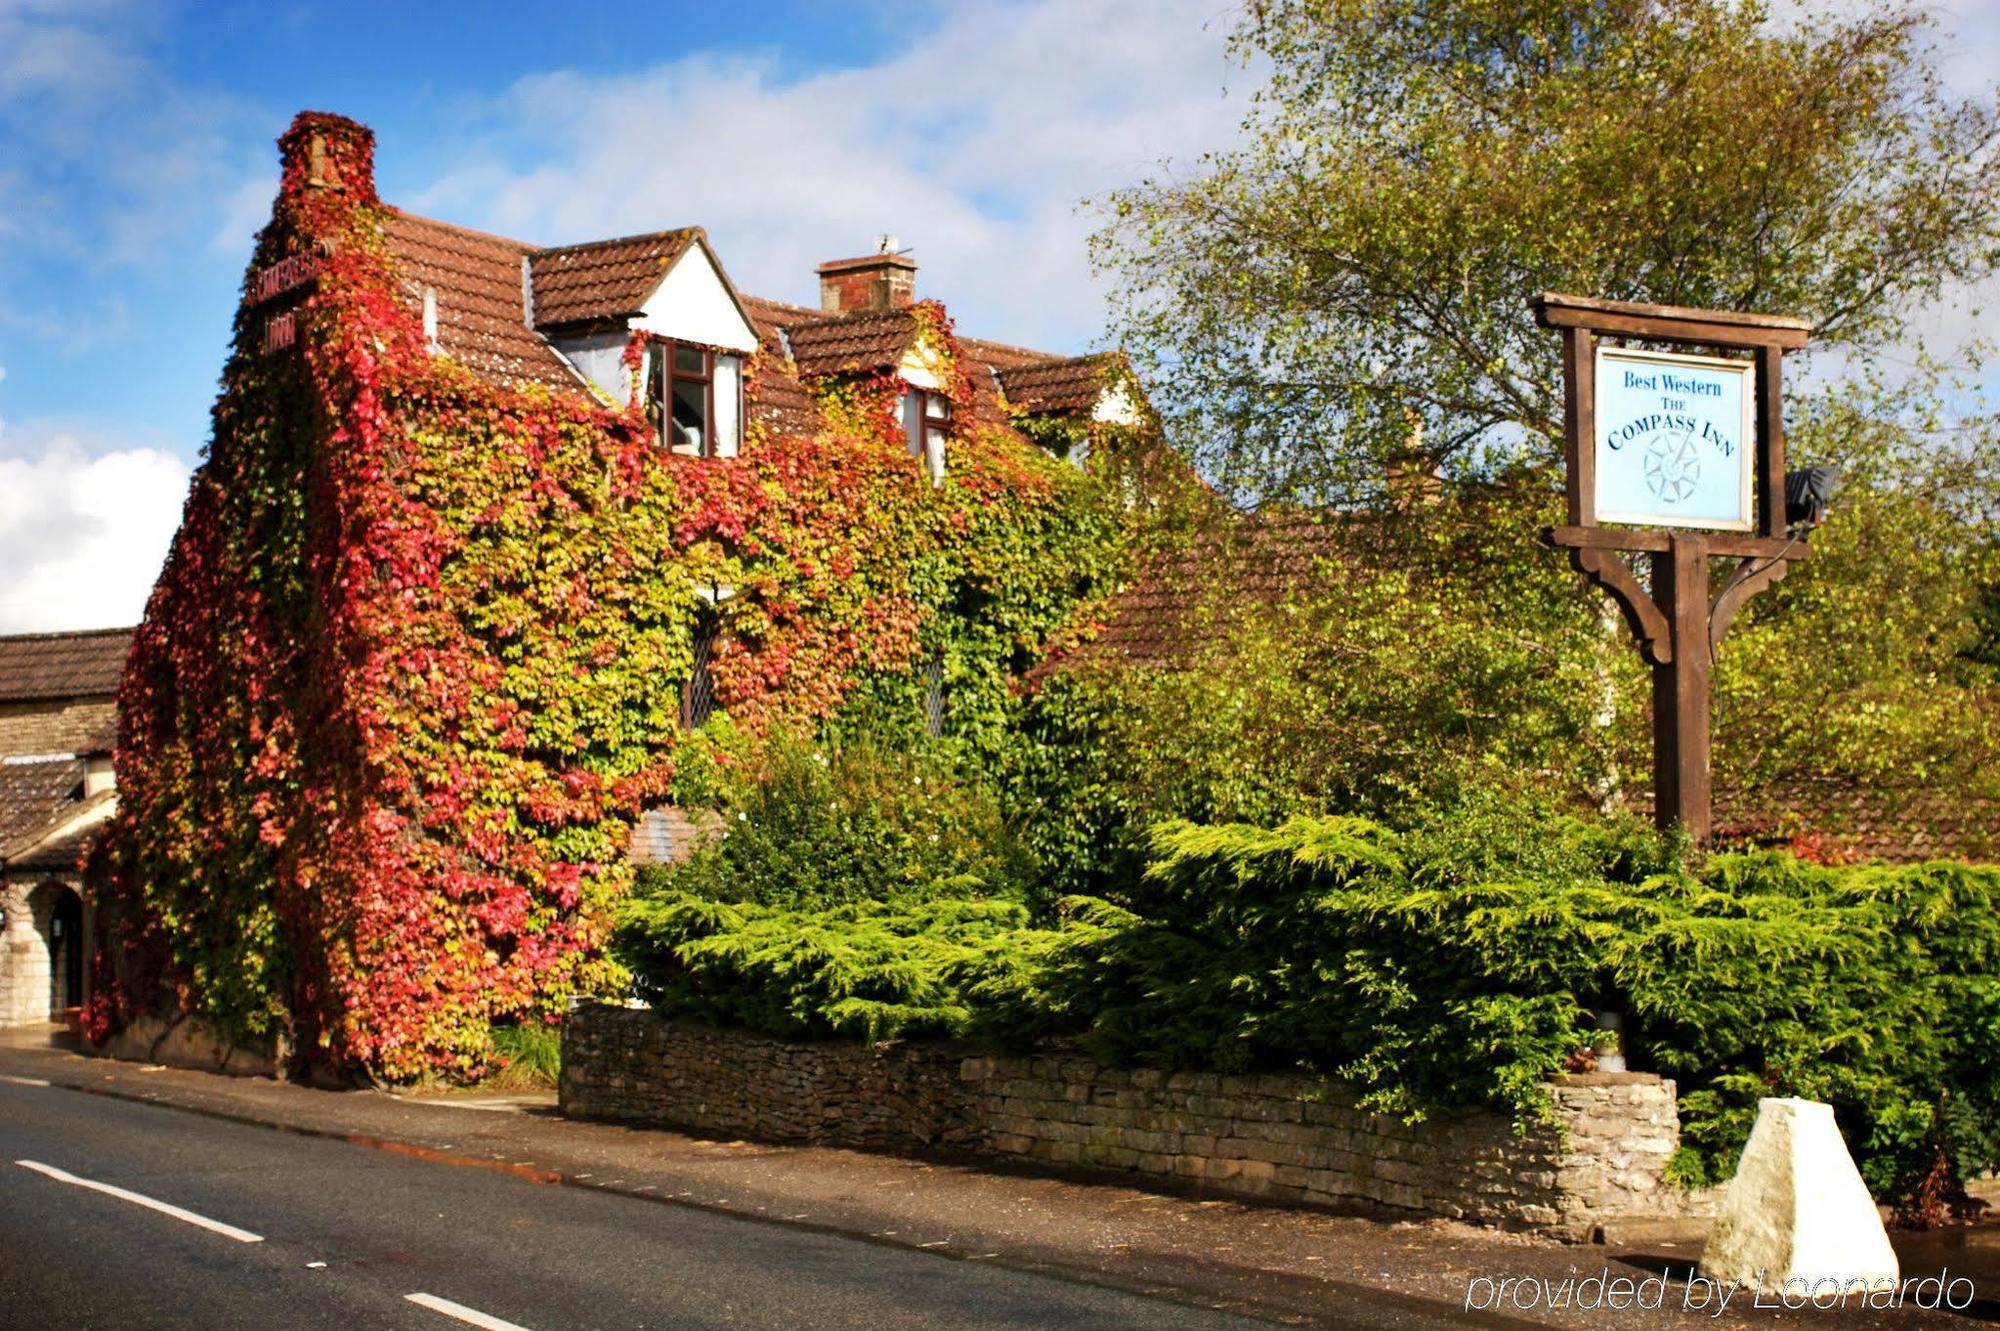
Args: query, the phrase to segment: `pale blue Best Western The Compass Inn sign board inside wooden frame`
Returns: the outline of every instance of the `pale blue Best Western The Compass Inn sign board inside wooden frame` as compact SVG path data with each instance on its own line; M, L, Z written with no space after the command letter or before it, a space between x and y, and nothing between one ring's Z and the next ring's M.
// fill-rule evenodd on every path
M1750 532L1752 362L1596 348L1598 522Z

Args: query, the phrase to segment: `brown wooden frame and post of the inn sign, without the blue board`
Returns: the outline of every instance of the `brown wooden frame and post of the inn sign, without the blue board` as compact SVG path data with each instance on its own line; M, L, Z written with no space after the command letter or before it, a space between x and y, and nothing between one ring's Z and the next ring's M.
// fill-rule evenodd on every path
M1652 666L1652 805L1660 827L1710 833L1708 675L1744 604L1808 556L1784 520L1784 354L1806 346L1812 324L1774 314L1642 306L1544 292L1528 302L1542 328L1562 334L1562 436L1568 522L1546 540L1606 590ZM1750 532L1606 528L1598 524L1596 348L1600 338L1750 352L1756 406L1756 484ZM1644 554L1650 588L1622 558ZM1720 586L1708 560L1736 560Z

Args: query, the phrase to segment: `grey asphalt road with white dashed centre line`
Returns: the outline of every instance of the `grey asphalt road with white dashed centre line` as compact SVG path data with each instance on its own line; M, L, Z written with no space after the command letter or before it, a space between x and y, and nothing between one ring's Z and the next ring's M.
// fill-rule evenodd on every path
M1220 1331L1268 1323L0 1081L0 1327L466 1325Z

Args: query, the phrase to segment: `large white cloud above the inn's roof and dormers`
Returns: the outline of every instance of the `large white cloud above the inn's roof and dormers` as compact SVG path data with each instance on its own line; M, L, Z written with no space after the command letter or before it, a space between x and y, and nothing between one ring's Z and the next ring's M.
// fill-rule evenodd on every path
M966 332L1070 346L1102 326L1078 200L1234 138L1232 8L954 4L864 68L544 72L484 110L484 148L398 202L540 242L700 224L740 288L804 304L818 262L892 232Z

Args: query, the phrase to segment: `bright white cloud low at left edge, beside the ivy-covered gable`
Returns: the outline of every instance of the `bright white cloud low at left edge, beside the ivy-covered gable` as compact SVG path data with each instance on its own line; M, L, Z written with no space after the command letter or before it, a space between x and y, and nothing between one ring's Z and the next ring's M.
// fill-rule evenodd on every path
M90 456L70 432L0 458L0 632L138 624L180 526L188 464L156 448Z

